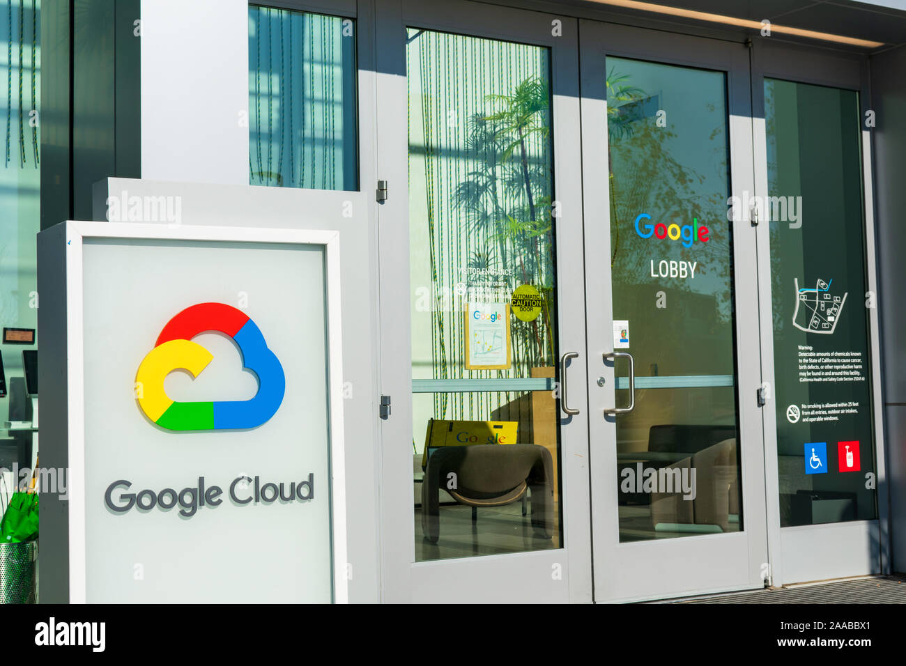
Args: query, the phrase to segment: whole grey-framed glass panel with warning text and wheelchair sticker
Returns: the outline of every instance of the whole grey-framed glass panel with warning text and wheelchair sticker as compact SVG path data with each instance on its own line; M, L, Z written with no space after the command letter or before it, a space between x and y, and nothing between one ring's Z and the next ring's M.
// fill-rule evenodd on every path
M774 583L882 573L863 61L767 43L753 62L762 335L775 387L765 412Z

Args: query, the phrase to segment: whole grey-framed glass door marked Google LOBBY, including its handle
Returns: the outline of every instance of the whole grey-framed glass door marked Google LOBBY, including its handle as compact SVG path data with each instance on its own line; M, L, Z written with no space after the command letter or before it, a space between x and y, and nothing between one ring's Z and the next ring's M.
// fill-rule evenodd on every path
M580 30L595 600L761 586L747 50Z

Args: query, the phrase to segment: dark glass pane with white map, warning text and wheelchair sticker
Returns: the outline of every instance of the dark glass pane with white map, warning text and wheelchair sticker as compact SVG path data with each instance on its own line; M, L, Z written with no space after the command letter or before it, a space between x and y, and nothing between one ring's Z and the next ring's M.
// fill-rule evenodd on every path
M781 525L875 518L858 94L767 79L765 122Z

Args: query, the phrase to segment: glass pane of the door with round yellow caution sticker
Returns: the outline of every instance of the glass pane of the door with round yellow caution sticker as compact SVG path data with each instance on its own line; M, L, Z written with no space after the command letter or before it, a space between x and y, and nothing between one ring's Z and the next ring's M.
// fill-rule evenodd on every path
M406 53L416 559L559 547L550 55Z

